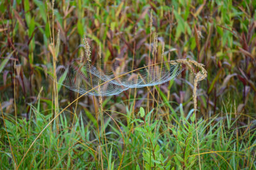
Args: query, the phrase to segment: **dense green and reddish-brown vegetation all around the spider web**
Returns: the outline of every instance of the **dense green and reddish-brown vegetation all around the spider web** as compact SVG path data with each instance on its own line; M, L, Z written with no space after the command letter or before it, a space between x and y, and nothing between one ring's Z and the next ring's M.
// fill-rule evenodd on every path
M255 11L249 0L0 1L1 169L256 169ZM196 114L188 66L63 111L78 94L49 75L83 59L84 36L92 64L204 64Z

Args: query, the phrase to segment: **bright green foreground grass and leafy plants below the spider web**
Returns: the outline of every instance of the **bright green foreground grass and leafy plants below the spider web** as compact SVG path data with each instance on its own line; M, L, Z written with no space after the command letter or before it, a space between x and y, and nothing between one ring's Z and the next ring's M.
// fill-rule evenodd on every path
M19 119L18 131L14 118L5 120L17 162L51 120L51 115L45 116L38 108L31 107L29 121ZM104 115L106 144L100 125L100 138L104 141L104 168L118 169L123 151L124 169L198 168L195 115L185 115L181 104L177 106L177 124L173 123L174 120L169 122L161 117L152 120L150 117L154 110L145 115L140 111L133 119L129 117L129 111L113 114L124 117L129 124L117 118L117 126L108 115ZM208 120L201 118L197 121L202 169L255 169L255 129L251 129L250 125L239 125L240 122L233 120L228 112L225 115L225 118L216 115ZM92 122L84 120L83 114L77 114L74 125L68 123L66 113L60 115L59 119L60 134L56 134L54 124L47 128L26 155L20 169L100 169L97 128ZM134 129L131 129L132 126ZM4 129L1 131L4 134ZM5 135L1 138L8 141ZM8 146L1 143L3 169L14 167Z

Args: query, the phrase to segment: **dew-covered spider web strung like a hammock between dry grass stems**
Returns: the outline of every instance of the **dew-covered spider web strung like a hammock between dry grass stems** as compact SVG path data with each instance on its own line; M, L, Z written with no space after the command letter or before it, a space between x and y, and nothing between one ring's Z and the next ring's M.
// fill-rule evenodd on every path
M67 89L82 95L91 90L86 95L113 96L127 89L165 83L175 78L181 71L180 64L168 62L137 69L124 64L92 65L90 62L83 64L72 62L68 66L58 64L56 80ZM100 85L102 83L104 84ZM97 87L99 85L100 87Z

